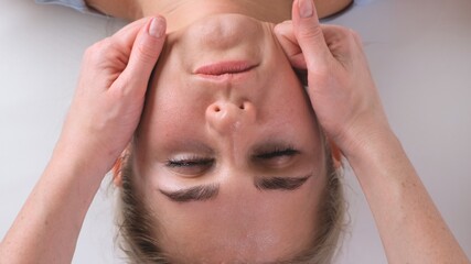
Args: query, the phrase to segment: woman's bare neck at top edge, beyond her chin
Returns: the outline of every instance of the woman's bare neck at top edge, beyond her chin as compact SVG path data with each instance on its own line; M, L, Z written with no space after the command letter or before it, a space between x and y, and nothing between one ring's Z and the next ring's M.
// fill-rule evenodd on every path
M238 13L279 23L291 18L292 0L139 0L137 16L161 14L173 32L213 14Z

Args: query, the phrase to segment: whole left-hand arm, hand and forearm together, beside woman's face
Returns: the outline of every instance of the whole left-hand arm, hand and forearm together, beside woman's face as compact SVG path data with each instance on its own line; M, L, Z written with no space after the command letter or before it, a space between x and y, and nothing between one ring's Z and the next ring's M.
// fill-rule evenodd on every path
M0 263L71 263L105 174L139 123L165 21L136 21L89 47L50 164L0 244Z

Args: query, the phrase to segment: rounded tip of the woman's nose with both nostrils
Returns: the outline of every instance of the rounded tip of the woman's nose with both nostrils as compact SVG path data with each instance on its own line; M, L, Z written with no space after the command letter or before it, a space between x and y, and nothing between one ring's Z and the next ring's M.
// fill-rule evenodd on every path
M216 101L206 109L206 121L220 134L233 133L255 123L256 109L249 101Z

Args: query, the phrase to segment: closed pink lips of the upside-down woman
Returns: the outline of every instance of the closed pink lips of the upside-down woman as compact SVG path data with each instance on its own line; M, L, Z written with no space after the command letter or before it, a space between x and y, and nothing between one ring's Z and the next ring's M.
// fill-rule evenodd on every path
M221 62L202 66L195 70L195 74L205 76L236 75L246 73L254 67L256 67L254 64L245 61Z

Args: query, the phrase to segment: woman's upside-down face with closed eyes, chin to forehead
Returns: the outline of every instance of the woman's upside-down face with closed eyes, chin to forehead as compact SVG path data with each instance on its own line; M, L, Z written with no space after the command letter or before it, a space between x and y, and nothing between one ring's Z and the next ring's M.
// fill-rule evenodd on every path
M148 92L133 167L165 252L254 263L309 248L324 148L272 25L225 14L172 33Z

